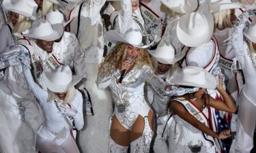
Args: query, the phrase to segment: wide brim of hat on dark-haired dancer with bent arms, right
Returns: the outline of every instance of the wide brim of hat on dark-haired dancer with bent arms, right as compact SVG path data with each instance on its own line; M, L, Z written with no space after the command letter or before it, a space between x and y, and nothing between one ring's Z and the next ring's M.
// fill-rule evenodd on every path
M215 89L217 86L216 79L214 76L207 71L205 71L205 82L203 84L197 84L195 82L187 82L182 77L184 75L183 71L181 71L179 74L175 75L173 78L171 78L170 82L175 85L180 86L193 86L193 87L199 87L199 88L207 88L207 89Z

